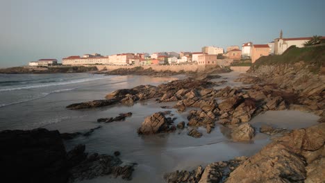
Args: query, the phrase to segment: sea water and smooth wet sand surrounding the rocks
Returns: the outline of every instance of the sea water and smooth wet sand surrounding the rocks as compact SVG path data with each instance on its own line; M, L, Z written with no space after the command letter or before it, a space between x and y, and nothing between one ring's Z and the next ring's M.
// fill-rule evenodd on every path
M239 73L223 73L218 80L228 82L216 88L238 87L233 82ZM194 139L187 135L188 130L176 130L169 134L139 136L137 129L146 116L163 112L161 106L175 103L156 103L154 99L141 101L133 106L112 105L85 110L67 110L71 103L102 99L116 89L131 88L138 85L159 85L184 76L152 78L150 76L103 76L90 73L66 74L21 74L0 75L0 130L47 128L60 132L85 132L101 126L89 137L78 137L65 141L67 150L78 143L86 145L90 153L113 154L121 152L124 162L135 162L131 182L164 182L163 174L176 170L191 170L206 166L211 162L231 159L236 156L250 156L269 143L269 137L257 133L249 143L235 143L226 137L228 129L222 125L203 137ZM175 123L187 122L186 112L178 113L168 109ZM132 112L125 121L97 123L97 119L114 117L119 113ZM318 116L304 112L282 111L266 112L252 120L259 127L263 123L281 128L303 128L317 123ZM294 123L294 125L290 125ZM125 182L121 178L98 177L83 182Z

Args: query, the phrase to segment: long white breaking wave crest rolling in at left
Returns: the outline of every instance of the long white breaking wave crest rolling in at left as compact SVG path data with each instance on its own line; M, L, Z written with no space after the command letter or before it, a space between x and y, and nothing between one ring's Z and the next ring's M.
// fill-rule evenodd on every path
M108 78L108 77L105 77L105 78ZM88 82L88 81L92 81L92 80L101 80L101 79L105 79L105 78L84 78L84 79L69 80L69 81L64 81L64 82L49 82L48 84L42 84L42 85L10 87L10 88L0 89L0 92L10 92L10 91L15 91L15 90L20 90L20 89L33 89L33 88L52 87L52 86L59 86L59 85L69 85L69 84L74 84L74 83L79 83L79 82ZM109 78L111 78L111 77L109 77Z

